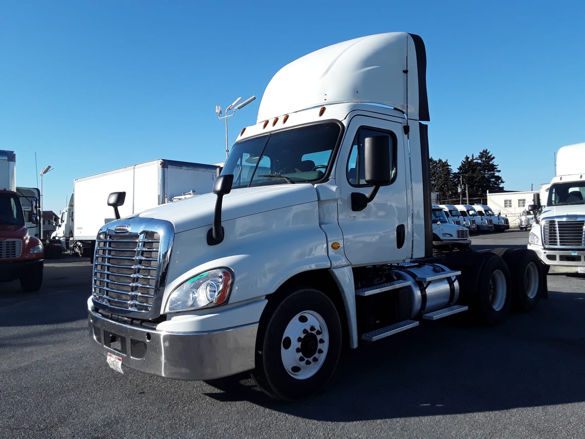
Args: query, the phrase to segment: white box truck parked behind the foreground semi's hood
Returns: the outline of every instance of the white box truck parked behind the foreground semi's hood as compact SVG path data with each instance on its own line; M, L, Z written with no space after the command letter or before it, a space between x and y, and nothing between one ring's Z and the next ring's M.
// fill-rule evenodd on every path
M157 159L74 180L73 207L67 207L67 218L74 220L70 248L79 256L92 256L99 229L115 219L107 204L110 193L126 193L120 215L127 217L168 203L176 196L211 192L217 169L211 164Z

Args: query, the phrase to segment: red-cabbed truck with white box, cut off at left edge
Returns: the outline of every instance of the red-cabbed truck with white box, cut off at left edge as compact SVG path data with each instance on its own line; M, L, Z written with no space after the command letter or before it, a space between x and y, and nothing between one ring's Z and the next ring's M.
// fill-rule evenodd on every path
M31 223L34 219L30 217ZM26 228L16 193L16 154L0 150L0 282L17 279L25 292L40 289L43 245Z

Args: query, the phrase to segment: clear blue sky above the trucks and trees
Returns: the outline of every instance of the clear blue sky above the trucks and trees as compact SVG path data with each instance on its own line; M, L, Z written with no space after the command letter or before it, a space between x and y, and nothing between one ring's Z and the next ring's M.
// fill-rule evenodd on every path
M404 31L427 51L431 156L456 170L487 148L509 190L538 188L585 141L581 1L155 2L0 0L0 149L18 186L59 212L73 180L154 159L225 159L288 62ZM35 164L36 153L36 164ZM38 183L37 183L38 181ZM104 200L105 203L105 200Z

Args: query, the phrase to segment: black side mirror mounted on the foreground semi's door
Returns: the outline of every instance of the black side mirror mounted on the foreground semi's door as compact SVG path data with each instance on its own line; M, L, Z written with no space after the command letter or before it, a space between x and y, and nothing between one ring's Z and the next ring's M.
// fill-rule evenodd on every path
M364 180L374 187L368 195L352 193L352 210L362 211L374 200L380 186L392 181L390 172L390 140L388 136L371 136L364 140Z

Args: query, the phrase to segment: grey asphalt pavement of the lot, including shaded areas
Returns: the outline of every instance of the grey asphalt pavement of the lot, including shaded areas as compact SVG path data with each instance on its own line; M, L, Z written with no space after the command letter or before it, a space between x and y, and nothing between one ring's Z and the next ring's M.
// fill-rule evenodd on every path
M522 247L528 232L472 236ZM549 275L532 313L463 314L343 352L325 390L276 403L247 374L214 382L110 369L88 342L87 258L47 260L42 289L0 284L2 438L582 438L585 279Z

